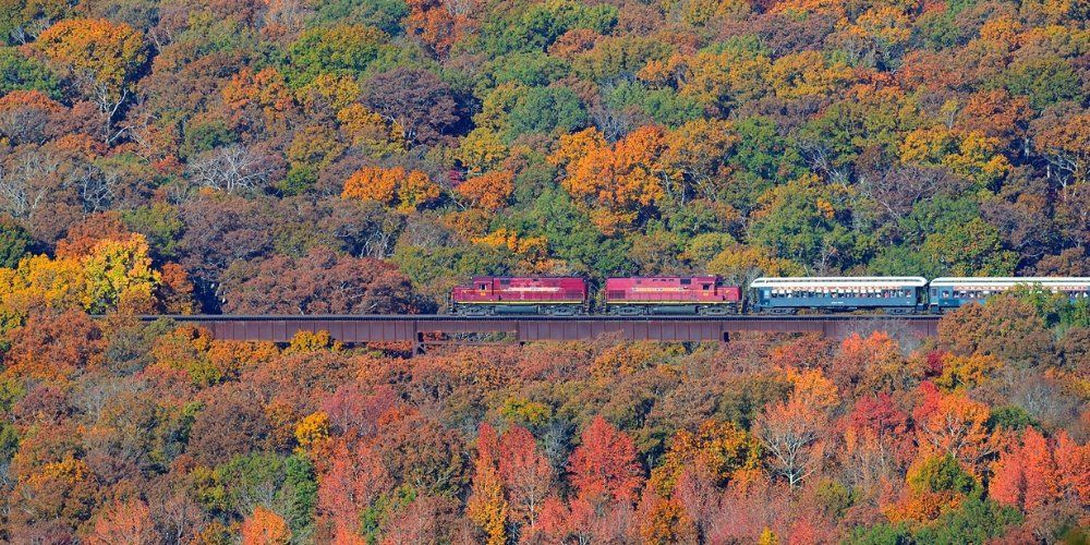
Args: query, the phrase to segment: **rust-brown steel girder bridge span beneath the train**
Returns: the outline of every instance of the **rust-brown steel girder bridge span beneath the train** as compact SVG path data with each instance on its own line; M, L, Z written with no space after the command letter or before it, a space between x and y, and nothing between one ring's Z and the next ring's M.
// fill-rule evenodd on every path
M216 339L288 342L300 331L328 331L341 342L412 342L420 350L429 339L470 334L506 334L517 342L590 340L616 336L623 340L662 342L726 342L731 334L818 332L844 338L853 332L885 330L923 338L937 334L938 316L611 316L459 317L459 316L145 316L209 329Z

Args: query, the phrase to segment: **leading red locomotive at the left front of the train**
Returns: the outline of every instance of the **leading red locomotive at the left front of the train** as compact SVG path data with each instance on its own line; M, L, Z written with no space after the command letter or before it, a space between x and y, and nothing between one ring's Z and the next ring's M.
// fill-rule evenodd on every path
M586 313L586 280L578 277L476 277L450 293L450 308L464 316Z

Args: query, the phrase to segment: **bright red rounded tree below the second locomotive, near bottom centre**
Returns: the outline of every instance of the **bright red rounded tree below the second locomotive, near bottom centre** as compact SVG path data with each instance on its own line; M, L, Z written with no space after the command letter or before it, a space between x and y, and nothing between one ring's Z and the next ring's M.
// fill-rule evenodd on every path
M592 502L633 502L643 484L632 438L602 416L595 416L583 431L568 469L579 497Z

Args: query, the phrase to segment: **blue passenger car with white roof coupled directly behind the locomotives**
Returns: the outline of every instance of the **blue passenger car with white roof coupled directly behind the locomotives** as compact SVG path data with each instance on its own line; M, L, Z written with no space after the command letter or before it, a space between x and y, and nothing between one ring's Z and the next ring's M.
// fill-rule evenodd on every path
M803 308L909 314L918 308L920 290L927 284L919 277L758 278L750 284L750 301L753 312L771 314Z

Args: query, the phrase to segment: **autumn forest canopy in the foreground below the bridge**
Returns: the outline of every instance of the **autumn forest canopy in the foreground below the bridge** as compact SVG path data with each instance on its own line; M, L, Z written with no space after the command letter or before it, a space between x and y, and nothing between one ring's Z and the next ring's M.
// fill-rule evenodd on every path
M307 258L315 258L310 256ZM77 304L74 301L73 304ZM995 304L1029 304L997 301ZM13 542L1077 540L1086 366L739 335L726 346L346 348L35 311L8 334ZM1006 324L1006 326L1005 326ZM1057 326L1058 327L1058 326ZM915 343L913 343L915 344ZM894 537L891 537L894 536Z

